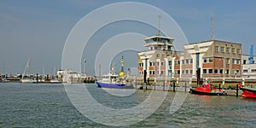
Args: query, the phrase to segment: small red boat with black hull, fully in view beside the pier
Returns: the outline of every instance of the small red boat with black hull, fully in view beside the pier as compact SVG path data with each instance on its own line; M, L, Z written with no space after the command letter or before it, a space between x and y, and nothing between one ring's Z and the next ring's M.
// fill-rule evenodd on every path
M210 95L210 96L225 96L226 92L216 90L212 84L203 84L200 87L189 90L191 94Z

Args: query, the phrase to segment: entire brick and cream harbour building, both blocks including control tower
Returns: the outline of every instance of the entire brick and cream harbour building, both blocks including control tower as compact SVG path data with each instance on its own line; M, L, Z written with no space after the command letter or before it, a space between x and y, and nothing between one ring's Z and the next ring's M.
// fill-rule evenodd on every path
M138 72L147 78L241 77L241 44L210 40L184 45L183 52L173 50L173 38L145 38L147 51L138 53ZM224 61L226 60L226 61Z

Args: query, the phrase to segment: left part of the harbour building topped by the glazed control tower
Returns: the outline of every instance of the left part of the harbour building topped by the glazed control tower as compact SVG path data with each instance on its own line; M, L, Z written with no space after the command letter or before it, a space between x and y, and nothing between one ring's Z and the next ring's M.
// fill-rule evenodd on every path
M138 52L138 75L147 78L167 78L174 74L174 60L177 52L174 51L174 38L153 36L145 38L146 51Z

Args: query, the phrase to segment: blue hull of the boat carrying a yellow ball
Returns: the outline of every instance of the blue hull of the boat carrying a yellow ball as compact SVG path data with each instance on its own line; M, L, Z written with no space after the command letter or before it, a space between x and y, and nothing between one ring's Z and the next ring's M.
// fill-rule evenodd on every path
M127 84L110 84L110 83L101 83L96 82L99 88L117 88L117 89L133 89L133 85L127 85Z

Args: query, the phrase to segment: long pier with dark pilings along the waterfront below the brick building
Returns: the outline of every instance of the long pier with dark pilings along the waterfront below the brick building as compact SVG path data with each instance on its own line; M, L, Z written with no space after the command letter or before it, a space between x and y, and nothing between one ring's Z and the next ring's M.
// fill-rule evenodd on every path
M216 89L224 90L228 96L241 96L241 90L238 89L236 92L238 83L242 86L256 86L256 79L252 78L207 78L201 80L204 83L213 84ZM130 78L130 81L137 90L189 92L189 88L198 86L196 79L147 79L146 83L143 83L143 78Z

